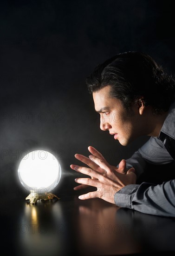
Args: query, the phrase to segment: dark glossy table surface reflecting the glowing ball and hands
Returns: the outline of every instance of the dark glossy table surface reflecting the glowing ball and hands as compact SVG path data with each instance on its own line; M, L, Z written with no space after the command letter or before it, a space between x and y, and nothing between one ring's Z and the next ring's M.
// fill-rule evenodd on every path
M82 191L73 190L74 178L65 176L58 184L55 194L60 200L39 200L35 205L26 202L20 185L12 186L11 179L1 182L1 255L175 252L175 218L118 208L98 198L82 201L78 199Z

